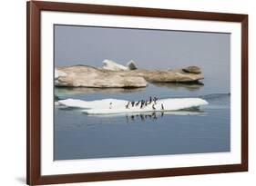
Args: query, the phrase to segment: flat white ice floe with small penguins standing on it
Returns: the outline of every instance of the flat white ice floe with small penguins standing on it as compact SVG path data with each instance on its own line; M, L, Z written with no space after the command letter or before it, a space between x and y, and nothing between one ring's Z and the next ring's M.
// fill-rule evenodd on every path
M144 105L142 108L140 108L140 103L138 103L137 106L131 106L131 103L129 103L128 108L126 108L128 101L117 99L103 99L96 101L67 99L58 101L58 103L67 107L85 109L82 112L87 114L167 112L195 108L208 104L208 102L200 98L160 99L156 104L151 102L148 103L147 106Z

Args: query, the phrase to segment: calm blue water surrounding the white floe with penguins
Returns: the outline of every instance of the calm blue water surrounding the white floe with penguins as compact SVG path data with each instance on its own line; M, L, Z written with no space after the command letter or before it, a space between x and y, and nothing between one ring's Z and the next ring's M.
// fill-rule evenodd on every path
M109 117L56 107L55 160L230 152L229 89L218 82L204 83L150 83L139 89L56 88L59 99L200 97L210 104L196 114Z

